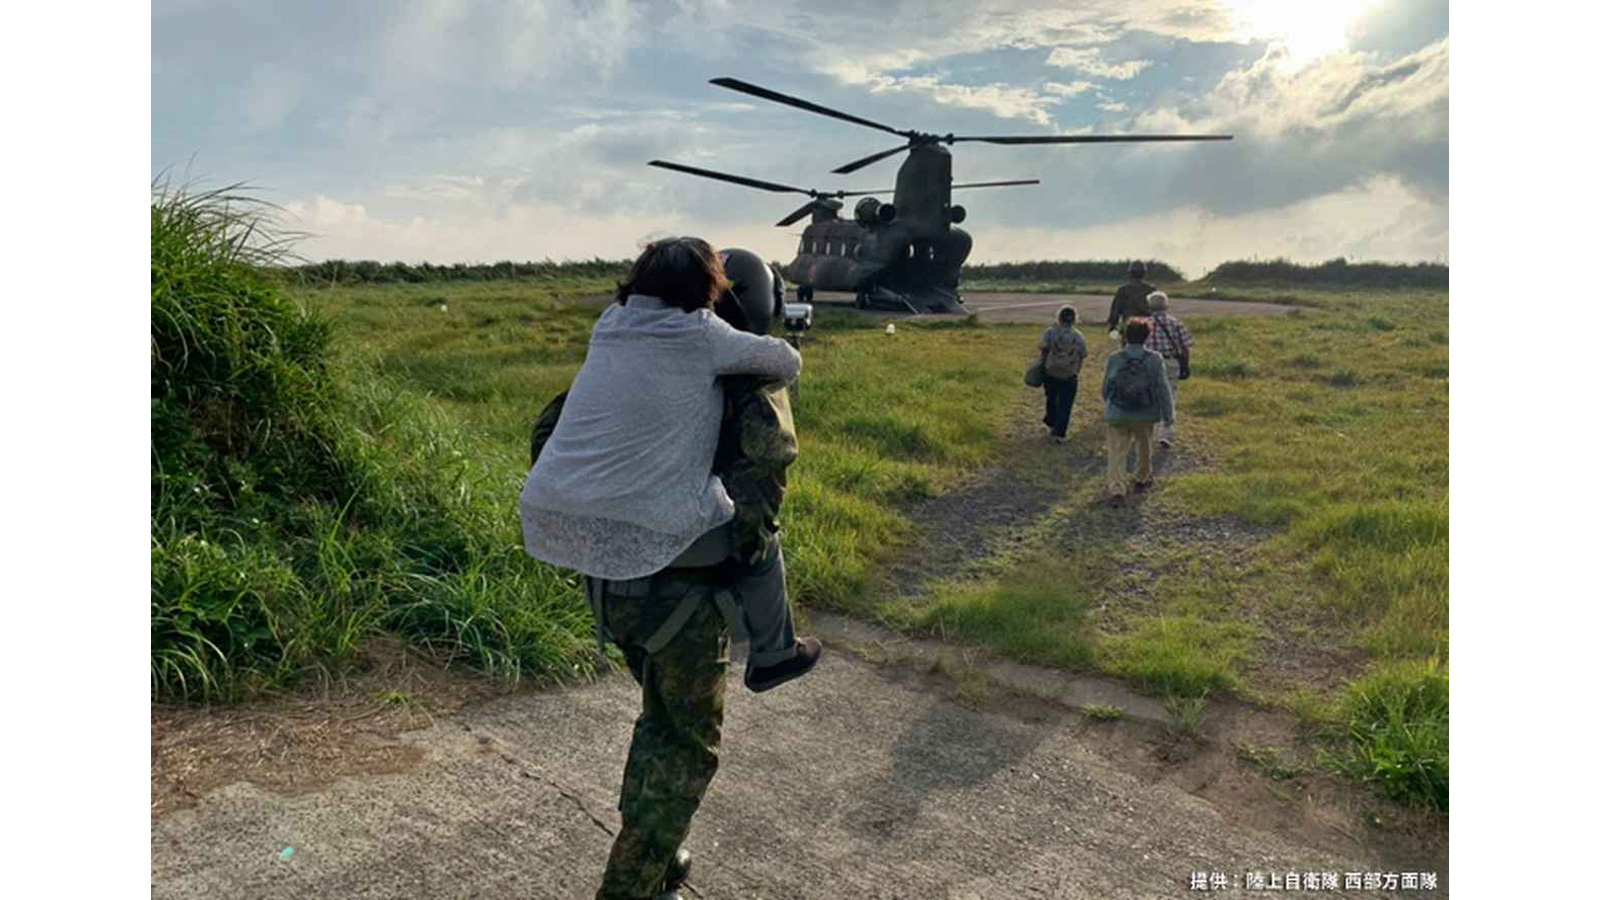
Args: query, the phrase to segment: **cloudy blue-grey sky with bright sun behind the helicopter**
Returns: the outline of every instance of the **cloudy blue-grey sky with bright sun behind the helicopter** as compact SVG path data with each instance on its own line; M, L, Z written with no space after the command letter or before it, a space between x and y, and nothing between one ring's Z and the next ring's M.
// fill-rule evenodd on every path
M872 8L864 14L861 10ZM621 258L701 234L770 258L803 197L645 167L877 189L894 128L1227 131L957 144L973 261L1448 261L1446 0L155 0L152 170L250 181L320 258ZM154 175L152 171L152 175Z

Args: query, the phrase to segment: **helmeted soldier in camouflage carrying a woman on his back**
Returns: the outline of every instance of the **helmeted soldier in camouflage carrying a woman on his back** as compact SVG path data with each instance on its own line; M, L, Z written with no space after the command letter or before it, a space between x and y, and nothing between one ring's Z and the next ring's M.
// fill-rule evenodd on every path
M755 275L742 256L768 277ZM723 251L722 259L734 290L717 303L717 314L763 333L782 309L782 282L746 251ZM758 301L763 295L768 299ZM597 629L622 650L643 693L618 804L622 830L597 900L675 900L688 881L682 844L717 773L730 628L750 636L746 685L752 690L803 676L821 655L814 639L795 639L778 540L786 471L798 452L789 392L758 376L722 383L723 426L712 471L734 501L733 522L656 575L586 580ZM534 461L565 399L557 396L534 423Z

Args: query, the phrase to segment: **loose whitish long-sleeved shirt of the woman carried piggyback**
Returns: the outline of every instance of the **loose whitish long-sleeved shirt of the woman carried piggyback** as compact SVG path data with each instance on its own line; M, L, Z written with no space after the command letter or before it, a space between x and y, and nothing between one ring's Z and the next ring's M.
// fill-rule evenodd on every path
M634 295L600 315L562 418L522 490L530 556L597 578L664 569L733 519L710 474L718 375L800 373L786 341L734 330L710 309Z

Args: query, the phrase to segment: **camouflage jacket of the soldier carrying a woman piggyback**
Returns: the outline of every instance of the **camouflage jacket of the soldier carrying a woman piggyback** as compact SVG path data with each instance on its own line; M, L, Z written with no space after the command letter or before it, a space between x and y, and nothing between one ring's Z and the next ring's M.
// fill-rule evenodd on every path
M722 434L712 471L733 500L733 549L741 562L760 562L778 535L789 466L798 455L789 389L754 375L731 375L723 383ZM533 423L528 464L555 431L566 391L550 400Z

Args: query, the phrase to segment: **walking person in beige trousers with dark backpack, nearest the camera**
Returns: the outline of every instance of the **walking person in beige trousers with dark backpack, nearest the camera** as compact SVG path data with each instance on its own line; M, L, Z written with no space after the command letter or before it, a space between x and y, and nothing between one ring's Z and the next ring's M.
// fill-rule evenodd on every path
M1128 498L1128 448L1139 453L1139 469L1133 488L1149 490L1150 431L1155 423L1173 424L1173 392L1166 384L1162 354L1150 352L1147 319L1131 319L1122 330L1125 348L1106 360L1101 397L1106 400L1106 493L1112 506Z

